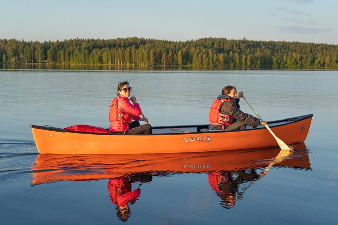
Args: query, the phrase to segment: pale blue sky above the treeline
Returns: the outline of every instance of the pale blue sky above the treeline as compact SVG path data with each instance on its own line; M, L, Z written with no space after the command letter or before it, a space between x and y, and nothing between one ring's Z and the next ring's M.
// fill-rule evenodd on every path
M337 0L1 0L0 39L203 37L338 44Z

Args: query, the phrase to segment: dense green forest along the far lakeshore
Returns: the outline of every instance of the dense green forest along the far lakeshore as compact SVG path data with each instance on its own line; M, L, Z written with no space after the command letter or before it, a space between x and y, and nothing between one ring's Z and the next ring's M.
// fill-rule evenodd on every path
M338 69L338 45L243 38L24 41L0 39L0 64L170 66L214 69Z

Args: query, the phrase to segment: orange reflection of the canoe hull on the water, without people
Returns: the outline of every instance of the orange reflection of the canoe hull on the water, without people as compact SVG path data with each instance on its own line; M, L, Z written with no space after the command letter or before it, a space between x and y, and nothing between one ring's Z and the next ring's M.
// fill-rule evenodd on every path
M304 143L274 162L279 148L172 154L58 155L39 154L32 166L32 185L57 181L116 179L135 174L241 171L267 166L310 168Z

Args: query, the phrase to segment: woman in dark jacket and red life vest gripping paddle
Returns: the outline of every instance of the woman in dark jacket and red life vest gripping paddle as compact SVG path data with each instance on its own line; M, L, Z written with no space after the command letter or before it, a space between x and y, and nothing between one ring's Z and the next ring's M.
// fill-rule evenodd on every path
M259 124L266 124L265 121L260 121L239 109L238 102L242 96L243 91L237 95L237 90L233 86L227 85L222 89L222 94L214 100L210 107L210 131L245 130L247 125L257 127Z

